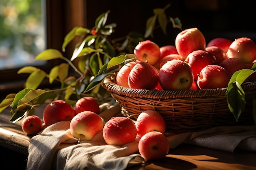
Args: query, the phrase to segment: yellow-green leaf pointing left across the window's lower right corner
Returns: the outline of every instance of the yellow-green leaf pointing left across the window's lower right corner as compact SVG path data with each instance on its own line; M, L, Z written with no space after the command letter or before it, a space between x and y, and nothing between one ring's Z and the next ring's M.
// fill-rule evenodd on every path
M63 58L63 55L60 51L56 49L46 49L45 51L38 54L35 60L53 60L57 58Z

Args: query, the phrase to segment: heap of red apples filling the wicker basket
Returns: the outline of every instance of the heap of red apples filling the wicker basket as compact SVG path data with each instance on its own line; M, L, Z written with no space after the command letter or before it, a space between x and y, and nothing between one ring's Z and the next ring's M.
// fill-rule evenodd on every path
M159 47L145 40L137 44L134 55L137 60L117 73L120 86L175 91L226 88L235 71L252 68L256 44L247 37L214 38L207 44L200 30L190 28L177 34L175 46Z

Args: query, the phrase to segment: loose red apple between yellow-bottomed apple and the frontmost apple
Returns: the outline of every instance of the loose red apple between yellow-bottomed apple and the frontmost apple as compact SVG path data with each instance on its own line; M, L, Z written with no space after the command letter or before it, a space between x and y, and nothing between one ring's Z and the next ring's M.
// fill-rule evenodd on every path
M103 127L103 138L108 145L123 146L136 137L135 123L127 117L112 117Z

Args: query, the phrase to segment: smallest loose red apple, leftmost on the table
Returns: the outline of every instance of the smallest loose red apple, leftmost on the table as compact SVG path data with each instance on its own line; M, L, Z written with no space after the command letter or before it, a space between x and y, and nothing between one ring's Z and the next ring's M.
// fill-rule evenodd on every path
M27 135L35 135L42 130L42 120L36 115L30 115L22 120L21 128Z

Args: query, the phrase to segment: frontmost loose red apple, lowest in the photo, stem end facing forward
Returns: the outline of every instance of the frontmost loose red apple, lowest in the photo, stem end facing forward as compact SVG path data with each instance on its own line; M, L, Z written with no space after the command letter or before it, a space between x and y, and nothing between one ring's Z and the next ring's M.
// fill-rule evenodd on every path
M169 141L163 133L151 131L139 139L138 149L145 161L164 158L170 149Z

